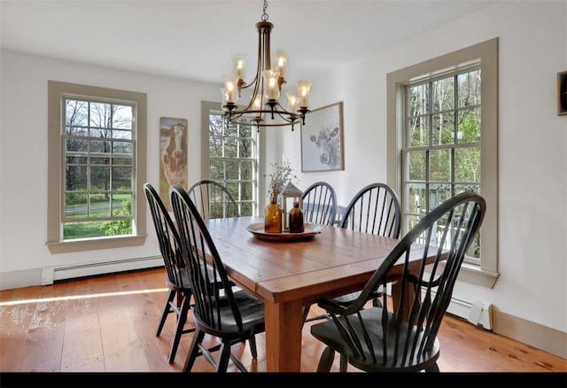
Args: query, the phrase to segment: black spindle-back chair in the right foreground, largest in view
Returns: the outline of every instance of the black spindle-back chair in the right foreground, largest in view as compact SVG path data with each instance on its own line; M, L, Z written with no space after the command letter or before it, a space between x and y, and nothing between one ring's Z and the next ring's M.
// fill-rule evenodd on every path
M318 305L331 320L311 327L311 334L326 345L317 371L330 371L334 354L339 353L342 372L347 363L368 372L439 372L439 326L485 211L485 199L475 193L447 199L396 244L352 303L342 306L321 299ZM416 259L411 264L410 256ZM413 291L402 291L393 312L385 308L385 293L382 307L364 308L399 260L404 266L398 279L401 289Z

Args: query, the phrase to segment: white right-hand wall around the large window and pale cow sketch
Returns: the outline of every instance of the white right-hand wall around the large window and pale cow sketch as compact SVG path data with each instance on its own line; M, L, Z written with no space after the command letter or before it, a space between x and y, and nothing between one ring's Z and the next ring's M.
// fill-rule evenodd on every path
M567 332L567 116L556 114L555 81L567 70L566 20L565 1L501 2L314 81L320 106L345 102L346 168L302 174L301 187L330 182L346 206L385 182L386 74L498 37L501 275L493 289L458 283L454 296ZM297 144L285 144L291 159Z

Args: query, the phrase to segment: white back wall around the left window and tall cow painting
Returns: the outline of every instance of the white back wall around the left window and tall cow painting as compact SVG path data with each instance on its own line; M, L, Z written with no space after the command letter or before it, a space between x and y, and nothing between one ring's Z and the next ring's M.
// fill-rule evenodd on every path
M189 120L189 181L200 172L201 100L219 100L219 86L2 50L0 120L0 284L38 284L41 269L159 254L147 216L142 246L50 254L47 239L47 81L147 93L147 180L159 183L159 117ZM18 283L16 282L16 283Z

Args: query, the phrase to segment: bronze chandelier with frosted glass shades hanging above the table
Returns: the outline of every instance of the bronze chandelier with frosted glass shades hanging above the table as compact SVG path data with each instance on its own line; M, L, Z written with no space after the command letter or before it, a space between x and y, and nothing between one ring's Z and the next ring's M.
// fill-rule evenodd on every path
M271 66L271 53L269 35L274 27L268 21L267 0L264 0L263 14L261 20L256 23L258 29L258 63L256 74L251 82L244 81L245 56L238 56L234 60L236 74L227 78L224 82L222 93L222 108L224 117L230 122L250 122L252 119L260 130L260 127L282 127L301 121L305 124L305 115L309 112L309 93L311 82L298 81L297 92L287 92L287 106L283 108L278 98L282 92L282 85L287 83L285 71L287 65L287 53L276 51L274 53L275 65ZM242 89L251 89L252 96L248 105L238 106L237 101L241 97ZM279 120L276 120L279 118ZM269 120L269 121L268 121Z

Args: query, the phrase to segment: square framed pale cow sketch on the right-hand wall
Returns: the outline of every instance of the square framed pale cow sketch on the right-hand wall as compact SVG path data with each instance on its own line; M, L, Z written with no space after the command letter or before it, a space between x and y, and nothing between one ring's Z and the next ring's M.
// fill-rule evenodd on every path
M301 171L345 169L343 102L307 113L301 125Z

